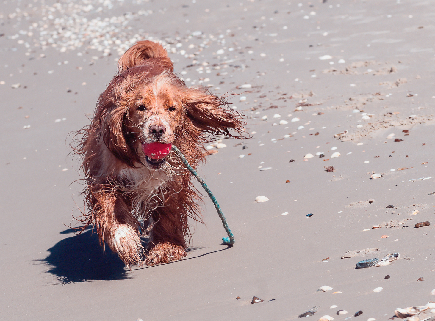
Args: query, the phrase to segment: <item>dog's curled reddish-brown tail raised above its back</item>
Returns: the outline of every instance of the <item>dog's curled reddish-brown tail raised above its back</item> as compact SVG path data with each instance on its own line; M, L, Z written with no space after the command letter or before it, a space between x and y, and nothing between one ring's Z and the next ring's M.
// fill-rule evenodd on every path
M118 70L122 72L134 66L157 64L173 72L174 65L160 43L144 40L135 43L118 60Z

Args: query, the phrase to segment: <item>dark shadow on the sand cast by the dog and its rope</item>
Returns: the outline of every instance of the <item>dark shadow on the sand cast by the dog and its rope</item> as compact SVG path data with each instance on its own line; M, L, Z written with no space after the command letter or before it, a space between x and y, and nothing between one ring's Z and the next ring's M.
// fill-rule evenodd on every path
M37 260L40 263L47 265L45 271L54 275L57 282L50 284L67 284L76 282L87 282L93 280L123 280L133 278L134 274L125 267L125 264L106 246L105 252L100 247L98 235L91 228L81 234L73 228L60 232L60 234L73 234L68 238L57 242L52 248L47 251L50 254L43 259ZM145 241L145 240L144 240ZM144 245L146 242L144 243ZM172 261L165 264L173 264L180 261L198 258L215 252L224 251L227 248L222 248L217 251L190 256L178 261ZM193 252L200 247L191 246L187 248L187 253ZM144 268L156 268L159 265L144 266L132 268L132 271L142 270Z

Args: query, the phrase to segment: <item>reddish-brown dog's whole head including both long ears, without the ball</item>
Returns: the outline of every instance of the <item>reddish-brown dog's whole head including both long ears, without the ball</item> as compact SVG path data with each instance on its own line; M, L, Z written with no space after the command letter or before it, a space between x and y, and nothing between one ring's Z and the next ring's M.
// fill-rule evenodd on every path
M150 77L126 71L110 83L98 105L95 117L100 119L100 135L106 146L133 167L164 167L166 157L145 155L148 144L197 147L207 137L204 133L233 136L228 129L240 134L244 128L223 98L204 88L187 88L167 72Z

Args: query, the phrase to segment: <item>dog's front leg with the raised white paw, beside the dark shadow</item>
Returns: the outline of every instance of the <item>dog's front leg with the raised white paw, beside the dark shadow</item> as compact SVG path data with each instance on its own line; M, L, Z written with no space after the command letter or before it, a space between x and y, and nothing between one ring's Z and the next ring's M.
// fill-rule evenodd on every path
M113 189L100 188L93 193L93 221L100 243L104 241L127 267L142 262L143 248L137 232L137 221L127 202Z

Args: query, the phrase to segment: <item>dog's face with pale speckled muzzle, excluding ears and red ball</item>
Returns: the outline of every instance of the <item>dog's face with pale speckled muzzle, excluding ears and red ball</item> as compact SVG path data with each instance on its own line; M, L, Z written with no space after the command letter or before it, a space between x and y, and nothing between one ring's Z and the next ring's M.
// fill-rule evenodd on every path
M177 88L165 83L146 84L134 90L126 121L134 150L140 150L143 144L174 142L184 108L177 93ZM151 169L160 169L166 162L166 158L144 158L144 164Z

